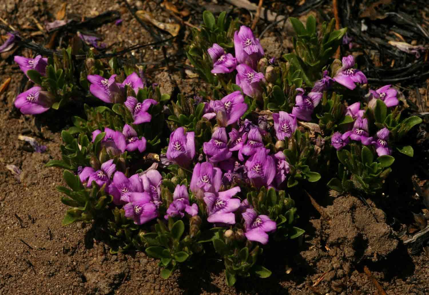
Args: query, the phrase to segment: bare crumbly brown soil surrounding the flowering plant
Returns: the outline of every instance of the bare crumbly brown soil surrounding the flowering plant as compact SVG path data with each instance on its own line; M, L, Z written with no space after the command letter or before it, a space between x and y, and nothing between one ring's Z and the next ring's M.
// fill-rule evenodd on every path
M136 1L134 5L144 8L145 3ZM154 2L148 6L157 9L161 21L170 18ZM18 27L34 26L32 16L43 22L45 12L55 15L60 2L6 0L0 7L0 16L6 21ZM67 14L94 16L109 9L119 10L124 22L99 29L106 43L126 47L152 40L121 1L76 0L69 3ZM187 30L185 36L188 34ZM278 57L290 50L290 42L281 40L275 36L263 39L270 55ZM282 46L276 48L273 42ZM180 46L174 44L167 53L179 52ZM160 50L136 52L137 59L147 62L162 57ZM193 96L206 87L174 66L165 71L150 69L148 78L163 84L166 92L173 92L177 86L185 95ZM299 243L291 243L290 249L271 251L266 265L272 276L240 279L233 288L226 286L218 260L202 261L198 268L183 268L163 280L157 262L144 253L111 255L106 234L96 224L61 226L66 206L55 188L65 184L59 169L45 168L44 164L60 158L59 131L69 122L61 122L53 111L31 117L12 110L22 75L10 57L0 60L0 82L7 77L12 83L0 96L0 294L377 294L374 283L363 272L364 265L388 295L429 294L429 256L424 251L411 255L387 222L386 213L370 200L366 206L352 196L321 198L330 221L319 218L315 210L301 209L306 215L302 220L309 220L300 224L305 236ZM36 137L48 147L47 152L28 152L28 146L18 141L19 134ZM7 164L23 171L21 182L6 170ZM405 200L412 197L403 196Z

